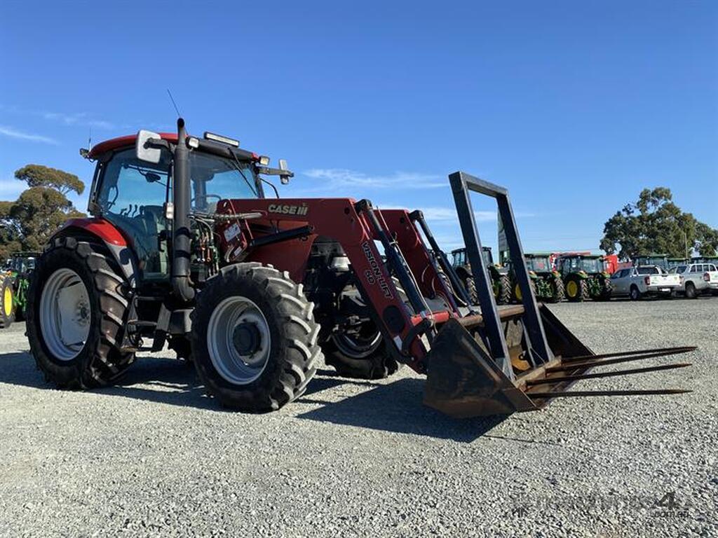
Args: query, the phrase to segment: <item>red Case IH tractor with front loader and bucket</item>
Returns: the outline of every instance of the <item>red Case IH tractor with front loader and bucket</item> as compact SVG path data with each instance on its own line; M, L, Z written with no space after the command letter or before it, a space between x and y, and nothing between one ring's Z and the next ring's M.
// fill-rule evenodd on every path
M428 374L428 405L471 416L574 395L565 388L603 364L536 304L501 187L449 176L477 268L475 305L421 212L281 199L263 176L289 181L284 161L270 168L230 138L189 136L181 119L177 133L139 131L80 152L97 162L92 217L52 237L27 309L32 354L60 387L111 384L137 351L168 344L237 410L294 400L324 357L368 379L408 364ZM469 191L498 201L523 305L495 305Z

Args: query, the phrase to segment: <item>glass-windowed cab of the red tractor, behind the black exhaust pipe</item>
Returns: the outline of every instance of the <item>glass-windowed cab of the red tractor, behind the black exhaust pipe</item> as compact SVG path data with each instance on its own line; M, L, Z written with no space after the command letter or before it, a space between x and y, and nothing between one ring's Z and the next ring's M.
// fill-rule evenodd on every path
M101 143L88 154L98 161L90 192L90 213L110 222L131 242L139 269L138 284L169 278L169 221L173 217L173 198L179 191L185 191L182 199L188 199L187 214L208 217L216 212L220 200L264 198L258 174L260 159L269 163L268 158L228 144L223 144L224 151L202 151L197 138L197 151L187 157L188 184L175 185L170 145L176 138L157 135L154 139L160 144L149 160L146 153L138 154L136 139L131 137ZM205 141L212 142L210 149L218 149L218 143Z

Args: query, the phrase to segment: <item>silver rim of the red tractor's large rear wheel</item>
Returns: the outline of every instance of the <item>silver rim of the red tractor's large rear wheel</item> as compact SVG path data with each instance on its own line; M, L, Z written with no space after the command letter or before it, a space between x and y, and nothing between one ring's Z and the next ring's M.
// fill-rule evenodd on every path
M50 275L40 296L40 331L47 350L60 361L71 361L90 334L90 298L85 283L72 269Z

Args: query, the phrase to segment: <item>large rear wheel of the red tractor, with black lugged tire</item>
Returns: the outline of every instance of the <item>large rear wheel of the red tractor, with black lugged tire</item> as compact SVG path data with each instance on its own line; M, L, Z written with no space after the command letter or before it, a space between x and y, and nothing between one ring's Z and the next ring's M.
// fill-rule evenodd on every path
M111 384L134 362L120 346L126 282L104 245L58 237L37 261L27 300L27 338L37 367L57 387Z

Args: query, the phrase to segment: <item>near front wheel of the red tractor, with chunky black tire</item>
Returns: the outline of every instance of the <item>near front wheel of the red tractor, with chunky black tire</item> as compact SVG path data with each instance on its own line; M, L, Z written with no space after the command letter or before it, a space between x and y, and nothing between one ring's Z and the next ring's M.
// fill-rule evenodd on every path
M322 350L302 285L261 263L228 265L208 280L192 313L192 359L224 407L277 410L302 395Z

